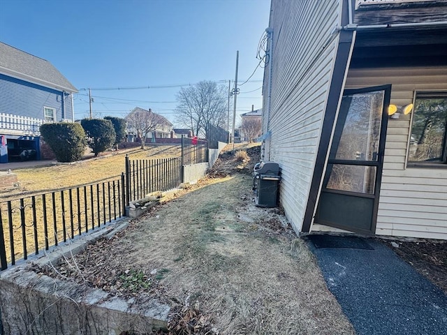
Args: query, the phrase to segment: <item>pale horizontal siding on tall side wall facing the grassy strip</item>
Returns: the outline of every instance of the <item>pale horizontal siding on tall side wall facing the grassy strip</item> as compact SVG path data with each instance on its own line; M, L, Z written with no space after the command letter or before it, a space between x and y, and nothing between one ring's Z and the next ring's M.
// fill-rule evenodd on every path
M295 231L302 228L309 197L338 39L323 46L339 25L339 11L337 0L272 1L272 98L270 121L263 119L271 137L265 159L279 163L281 205ZM267 84L263 91L267 106Z

